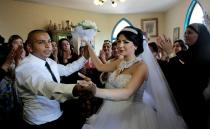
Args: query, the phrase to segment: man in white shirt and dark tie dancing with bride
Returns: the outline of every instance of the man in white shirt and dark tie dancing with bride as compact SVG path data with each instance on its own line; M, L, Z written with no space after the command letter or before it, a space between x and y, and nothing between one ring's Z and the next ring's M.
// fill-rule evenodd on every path
M49 34L33 30L28 34L30 54L16 68L16 87L23 102L23 129L80 128L77 119L64 117L60 102L73 99L89 90L75 84L61 84L60 76L68 76L83 67L89 54L67 64L48 58L52 52ZM71 116L69 116L71 117Z

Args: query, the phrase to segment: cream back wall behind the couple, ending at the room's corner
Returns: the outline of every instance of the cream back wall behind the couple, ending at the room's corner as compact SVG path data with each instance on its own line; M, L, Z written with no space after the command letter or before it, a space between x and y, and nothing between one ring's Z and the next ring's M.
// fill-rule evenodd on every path
M108 15L15 0L1 0L0 16L0 35L6 40L12 34L19 34L25 40L29 31L46 28L50 20L57 24L62 20L70 20L74 24L85 19L95 21L101 30L95 39L97 53L103 40L110 39L113 27L123 17L139 28L141 18L158 17L159 33L164 33L165 30L164 13Z

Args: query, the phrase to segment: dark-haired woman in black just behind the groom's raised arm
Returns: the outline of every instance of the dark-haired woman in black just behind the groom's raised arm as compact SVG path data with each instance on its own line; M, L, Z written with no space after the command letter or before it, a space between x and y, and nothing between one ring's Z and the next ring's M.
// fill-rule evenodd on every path
M85 53L83 53L83 54L85 54ZM70 44L70 41L67 38L60 39L58 41L59 63L62 65L66 65L68 63L74 62L77 59L78 59L78 55L74 52L73 46ZM86 63L85 63L85 65L86 65ZM78 71L75 71L74 73L72 73L69 76L62 76L61 83L64 83L64 84L77 83L77 80L79 78L80 77L78 76ZM71 119L77 119L78 122L85 121L85 118L83 118L81 115L82 111L80 108L80 105L82 105L85 102L81 102L80 98L79 99L69 99L69 100L65 101L64 103L60 104L61 109L64 112L64 117L67 116L68 118L71 118Z

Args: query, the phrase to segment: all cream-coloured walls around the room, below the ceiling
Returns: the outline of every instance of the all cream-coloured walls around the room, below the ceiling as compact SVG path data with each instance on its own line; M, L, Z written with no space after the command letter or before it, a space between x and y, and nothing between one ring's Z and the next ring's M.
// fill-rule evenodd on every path
M104 39L110 39L115 24L121 19L128 19L134 26L141 28L142 18L158 17L159 34L166 34L173 38L173 29L180 27L180 38L184 34L184 21L191 0L181 0L173 8L165 13L108 15L87 11L79 11L57 6L24 3L14 0L1 0L0 4L0 34L9 38L12 34L19 34L25 40L29 31L43 29L52 20L61 23L62 20L70 20L74 24L84 19L90 19L97 23L101 32L96 35L96 52L101 49ZM204 11L210 15L210 0L199 0ZM151 39L155 41L155 38Z

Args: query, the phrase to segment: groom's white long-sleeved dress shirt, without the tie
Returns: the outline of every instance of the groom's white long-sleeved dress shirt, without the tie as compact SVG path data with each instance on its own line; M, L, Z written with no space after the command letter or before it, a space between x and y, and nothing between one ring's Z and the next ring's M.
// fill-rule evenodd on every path
M57 82L48 69L49 63ZM60 76L68 76L83 67L84 57L66 66L57 64L50 58L46 61L29 54L16 68L16 86L23 102L23 117L32 125L40 125L57 120L61 115L59 102L73 98L75 84L61 84Z

